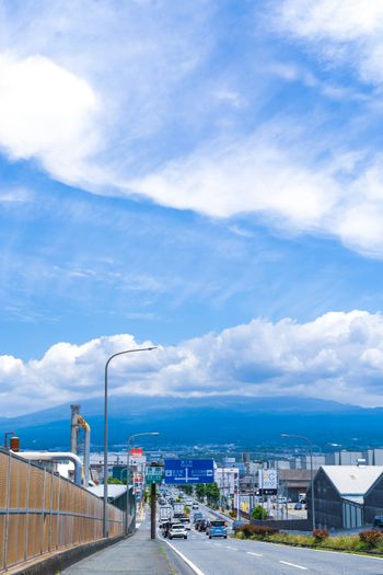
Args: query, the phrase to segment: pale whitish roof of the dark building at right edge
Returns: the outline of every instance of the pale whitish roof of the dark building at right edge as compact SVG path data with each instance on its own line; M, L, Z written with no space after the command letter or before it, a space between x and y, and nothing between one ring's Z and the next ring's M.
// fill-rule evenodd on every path
M322 465L341 496L364 495L383 473L383 465Z

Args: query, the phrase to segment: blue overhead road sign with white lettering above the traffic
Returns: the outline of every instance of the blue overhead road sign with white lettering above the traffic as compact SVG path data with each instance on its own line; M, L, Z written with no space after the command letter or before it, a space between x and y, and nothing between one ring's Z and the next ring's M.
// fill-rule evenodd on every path
M192 484L213 483L214 462L212 459L165 459L165 483Z

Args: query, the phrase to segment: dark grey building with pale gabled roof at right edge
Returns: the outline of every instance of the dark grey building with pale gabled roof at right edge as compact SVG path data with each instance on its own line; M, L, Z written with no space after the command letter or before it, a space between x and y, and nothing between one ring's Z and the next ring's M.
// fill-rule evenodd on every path
M311 515L311 487L307 513ZM383 465L323 465L314 478L315 522L326 529L371 526L383 515Z

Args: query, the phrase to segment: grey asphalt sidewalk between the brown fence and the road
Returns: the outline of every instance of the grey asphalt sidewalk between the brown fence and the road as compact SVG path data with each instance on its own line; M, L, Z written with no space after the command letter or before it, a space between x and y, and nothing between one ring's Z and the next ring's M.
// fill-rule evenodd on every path
M161 541L150 539L150 524L143 520L137 532L107 549L76 563L62 575L175 575Z

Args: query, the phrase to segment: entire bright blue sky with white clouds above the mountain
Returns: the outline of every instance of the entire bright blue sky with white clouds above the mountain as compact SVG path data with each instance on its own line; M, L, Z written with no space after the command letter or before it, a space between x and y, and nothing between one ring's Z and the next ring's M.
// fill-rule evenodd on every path
M1 414L383 405L383 0L0 0ZM112 376L112 373L111 373Z

